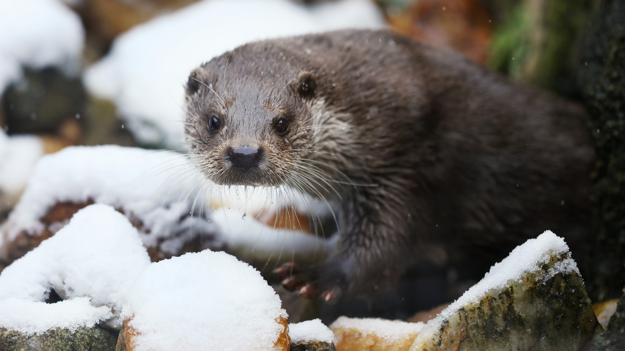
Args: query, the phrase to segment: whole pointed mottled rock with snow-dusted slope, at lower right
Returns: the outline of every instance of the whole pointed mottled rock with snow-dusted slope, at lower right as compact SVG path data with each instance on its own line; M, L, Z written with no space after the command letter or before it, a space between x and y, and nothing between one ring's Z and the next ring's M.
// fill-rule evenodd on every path
M581 350L601 327L564 240L528 240L419 332L410 351Z

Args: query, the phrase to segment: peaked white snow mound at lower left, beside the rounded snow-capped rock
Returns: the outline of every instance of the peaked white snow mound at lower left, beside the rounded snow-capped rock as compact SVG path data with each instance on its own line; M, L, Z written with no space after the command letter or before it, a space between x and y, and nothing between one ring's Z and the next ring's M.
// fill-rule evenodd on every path
M23 333L76 329L119 314L149 265L137 230L108 205L79 210L68 225L0 274L0 327ZM66 298L46 304L50 290Z

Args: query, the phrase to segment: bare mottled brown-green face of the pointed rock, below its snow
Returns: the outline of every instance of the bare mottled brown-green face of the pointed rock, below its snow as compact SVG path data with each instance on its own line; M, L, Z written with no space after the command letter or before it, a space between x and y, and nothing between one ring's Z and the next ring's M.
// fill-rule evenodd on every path
M568 256L552 254L542 269L444 310L410 350L583 350L601 326L576 270L557 269Z

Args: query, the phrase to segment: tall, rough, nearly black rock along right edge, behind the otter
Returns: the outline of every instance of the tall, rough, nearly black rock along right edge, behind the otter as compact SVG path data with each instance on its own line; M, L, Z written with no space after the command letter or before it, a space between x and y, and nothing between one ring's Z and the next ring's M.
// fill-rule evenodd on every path
M592 300L625 286L625 3L605 1L581 47L579 80L597 149L595 242L587 281Z

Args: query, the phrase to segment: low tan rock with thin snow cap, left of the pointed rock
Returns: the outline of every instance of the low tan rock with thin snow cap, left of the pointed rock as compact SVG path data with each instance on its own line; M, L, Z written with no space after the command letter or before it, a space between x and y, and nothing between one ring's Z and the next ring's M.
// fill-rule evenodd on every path
M406 351L422 323L339 317L330 325L337 351Z

